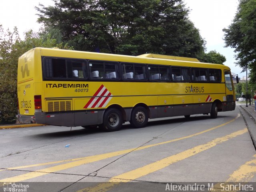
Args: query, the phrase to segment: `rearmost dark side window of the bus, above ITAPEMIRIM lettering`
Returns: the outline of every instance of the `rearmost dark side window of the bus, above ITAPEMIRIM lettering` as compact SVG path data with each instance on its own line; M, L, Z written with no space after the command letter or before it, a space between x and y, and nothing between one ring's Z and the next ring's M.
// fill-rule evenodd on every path
M44 77L56 79L86 79L85 62L77 59L44 58Z

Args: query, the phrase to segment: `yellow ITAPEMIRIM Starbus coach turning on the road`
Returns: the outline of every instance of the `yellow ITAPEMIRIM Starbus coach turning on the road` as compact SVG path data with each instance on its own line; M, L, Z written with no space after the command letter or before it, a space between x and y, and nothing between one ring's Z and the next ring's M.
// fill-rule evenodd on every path
M34 48L18 61L20 122L134 128L148 119L234 110L230 68L195 58Z

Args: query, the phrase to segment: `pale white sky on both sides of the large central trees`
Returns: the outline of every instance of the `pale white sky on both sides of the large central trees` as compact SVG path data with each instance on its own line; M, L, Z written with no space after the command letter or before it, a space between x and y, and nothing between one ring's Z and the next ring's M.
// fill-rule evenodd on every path
M0 24L6 30L12 30L17 26L19 34L32 29L38 31L37 11L35 6L39 2L44 6L54 5L52 0L2 0L0 2ZM206 52L216 50L226 57L226 66L239 77L246 76L240 73L241 68L235 66L234 49L224 48L223 28L227 28L236 14L238 0L184 0L190 9L190 20L199 29L200 34L206 40Z

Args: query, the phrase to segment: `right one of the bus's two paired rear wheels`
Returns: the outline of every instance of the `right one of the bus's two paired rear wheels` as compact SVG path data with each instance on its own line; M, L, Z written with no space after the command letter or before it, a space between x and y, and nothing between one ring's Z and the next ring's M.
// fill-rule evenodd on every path
M134 128L145 127L148 123L148 111L142 107L137 106L132 110L130 124Z

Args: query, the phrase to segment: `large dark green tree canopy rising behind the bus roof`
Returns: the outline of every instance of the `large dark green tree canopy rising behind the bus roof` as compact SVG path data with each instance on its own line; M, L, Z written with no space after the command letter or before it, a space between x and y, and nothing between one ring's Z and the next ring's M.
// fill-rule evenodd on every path
M55 6L36 9L42 33L61 36L76 50L195 58L204 53L182 0L55 0Z

